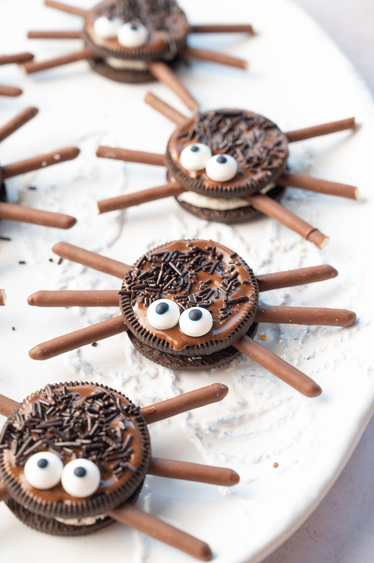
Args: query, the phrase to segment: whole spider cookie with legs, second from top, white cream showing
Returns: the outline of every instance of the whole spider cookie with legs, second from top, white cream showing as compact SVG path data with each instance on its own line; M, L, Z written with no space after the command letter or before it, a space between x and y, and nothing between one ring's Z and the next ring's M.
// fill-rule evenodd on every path
M174 196L186 211L223 223L267 215L323 248L328 237L280 202L286 187L358 199L358 189L287 171L289 143L355 127L354 118L283 133L253 111L218 109L191 118L148 93L145 101L177 128L165 154L100 146L96 155L166 167L167 184L98 202L99 213Z

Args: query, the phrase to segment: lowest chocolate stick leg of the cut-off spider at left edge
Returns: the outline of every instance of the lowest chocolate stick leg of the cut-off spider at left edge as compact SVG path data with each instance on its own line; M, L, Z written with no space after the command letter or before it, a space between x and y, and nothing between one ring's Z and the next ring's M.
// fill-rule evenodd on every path
M0 218L9 221L21 221L44 227L55 227L56 229L71 229L76 223L76 218L63 213L52 213L40 211L24 205L0 202Z

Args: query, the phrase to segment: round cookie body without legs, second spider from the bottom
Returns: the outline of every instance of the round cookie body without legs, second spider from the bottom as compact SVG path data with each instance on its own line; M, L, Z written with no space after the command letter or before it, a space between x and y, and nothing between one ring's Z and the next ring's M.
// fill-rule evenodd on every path
M228 348L251 329L258 307L253 271L211 240L177 240L144 254L120 295L134 345L174 369L227 363L236 354Z

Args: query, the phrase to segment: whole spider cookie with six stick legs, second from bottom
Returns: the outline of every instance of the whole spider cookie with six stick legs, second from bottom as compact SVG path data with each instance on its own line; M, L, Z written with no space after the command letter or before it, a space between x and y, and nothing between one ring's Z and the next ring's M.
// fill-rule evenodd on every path
M314 266L254 276L236 252L212 240L177 240L148 251L133 265L57 243L61 258L123 279L120 291L38 291L28 298L39 307L119 307L121 315L57 336L29 351L47 360L103 338L127 332L147 358L173 369L224 365L236 352L246 355L307 395L321 387L253 338L256 323L349 327L353 311L319 307L260 305L258 293L334 278L332 266Z

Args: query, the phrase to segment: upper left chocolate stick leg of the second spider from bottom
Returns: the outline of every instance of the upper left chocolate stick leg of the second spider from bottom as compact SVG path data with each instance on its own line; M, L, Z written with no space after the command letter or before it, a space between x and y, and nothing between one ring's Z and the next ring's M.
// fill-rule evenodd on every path
M84 248L76 247L69 243L57 243L52 248L52 251L57 254L57 256L61 256L61 258L82 264L82 266L88 266L94 270L104 272L104 274L110 274L111 276L115 276L115 278L123 279L129 270L127 264L123 264L112 258L107 258L106 256L101 256L96 252L90 252Z

